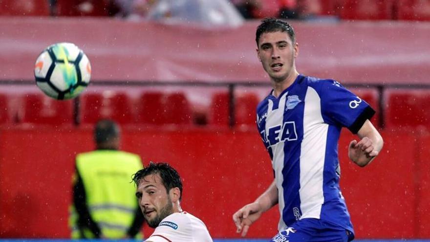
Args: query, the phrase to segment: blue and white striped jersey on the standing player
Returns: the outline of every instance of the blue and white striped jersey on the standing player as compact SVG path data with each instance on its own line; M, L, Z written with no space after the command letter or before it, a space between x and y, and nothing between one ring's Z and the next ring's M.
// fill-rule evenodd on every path
M334 80L299 75L278 98L272 93L258 104L257 125L278 187L278 229L314 218L353 232L339 187L338 140L342 127L357 133L375 111Z

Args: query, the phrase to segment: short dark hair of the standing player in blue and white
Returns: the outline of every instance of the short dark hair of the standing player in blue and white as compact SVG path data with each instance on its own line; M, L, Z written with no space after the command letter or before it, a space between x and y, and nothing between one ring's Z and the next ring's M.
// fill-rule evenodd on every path
M274 18L266 18L263 19L257 27L256 31L256 42L258 47L258 41L260 40L260 36L264 33L273 33L273 32L287 32L290 36L290 39L293 43L296 42L296 32L294 32L293 26L291 26L288 22L274 19Z

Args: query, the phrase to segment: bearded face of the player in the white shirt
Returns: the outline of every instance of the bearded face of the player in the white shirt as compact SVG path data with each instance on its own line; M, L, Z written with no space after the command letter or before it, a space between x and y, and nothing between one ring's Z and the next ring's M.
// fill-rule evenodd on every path
M173 213L172 200L159 174L145 176L137 187L136 197L151 228L157 227L161 220Z

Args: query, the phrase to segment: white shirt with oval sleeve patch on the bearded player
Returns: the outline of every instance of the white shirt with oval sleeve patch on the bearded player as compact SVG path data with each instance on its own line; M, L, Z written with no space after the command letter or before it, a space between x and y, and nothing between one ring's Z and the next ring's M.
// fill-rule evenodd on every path
M146 242L213 242L213 240L202 220L187 212L181 212L164 218Z

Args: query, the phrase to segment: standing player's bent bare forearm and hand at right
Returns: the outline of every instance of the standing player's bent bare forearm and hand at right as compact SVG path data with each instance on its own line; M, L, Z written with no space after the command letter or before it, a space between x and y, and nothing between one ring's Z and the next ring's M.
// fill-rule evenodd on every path
M384 140L369 120L365 121L357 135L360 141L352 140L349 143L348 156L354 163L364 167L379 154Z

